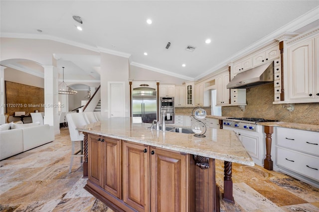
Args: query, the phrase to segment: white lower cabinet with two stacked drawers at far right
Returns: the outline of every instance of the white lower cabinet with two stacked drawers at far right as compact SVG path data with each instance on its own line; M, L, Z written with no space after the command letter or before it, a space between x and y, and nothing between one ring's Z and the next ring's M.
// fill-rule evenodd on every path
M276 165L319 188L319 132L277 127Z

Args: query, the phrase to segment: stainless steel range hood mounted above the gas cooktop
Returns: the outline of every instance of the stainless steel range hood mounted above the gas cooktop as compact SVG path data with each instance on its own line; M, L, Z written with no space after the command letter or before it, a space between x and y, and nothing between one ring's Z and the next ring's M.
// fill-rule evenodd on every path
M227 88L251 88L270 83L274 83L274 62L237 74Z

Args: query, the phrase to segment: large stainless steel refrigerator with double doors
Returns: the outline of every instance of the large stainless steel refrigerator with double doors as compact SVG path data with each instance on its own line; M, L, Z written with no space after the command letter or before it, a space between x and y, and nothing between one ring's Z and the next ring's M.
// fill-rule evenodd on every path
M144 123L152 123L157 119L156 92L142 92L132 95L133 117L141 116Z

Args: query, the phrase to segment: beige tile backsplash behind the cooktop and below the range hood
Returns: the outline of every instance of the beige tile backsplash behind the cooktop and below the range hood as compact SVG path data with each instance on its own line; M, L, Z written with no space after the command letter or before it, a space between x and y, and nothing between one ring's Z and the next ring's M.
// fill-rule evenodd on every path
M274 85L264 85L247 89L247 106L245 111L237 106L223 106L222 115L230 117L255 117L285 122L319 125L319 104L294 104L290 112L287 105L273 105ZM283 107L285 106L285 107Z

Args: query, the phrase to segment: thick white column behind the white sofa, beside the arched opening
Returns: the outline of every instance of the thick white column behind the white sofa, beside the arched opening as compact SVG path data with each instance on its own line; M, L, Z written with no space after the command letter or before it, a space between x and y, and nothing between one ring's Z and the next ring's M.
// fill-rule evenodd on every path
M44 67L44 123L54 127L54 134L60 133L58 114L58 71L54 66Z

